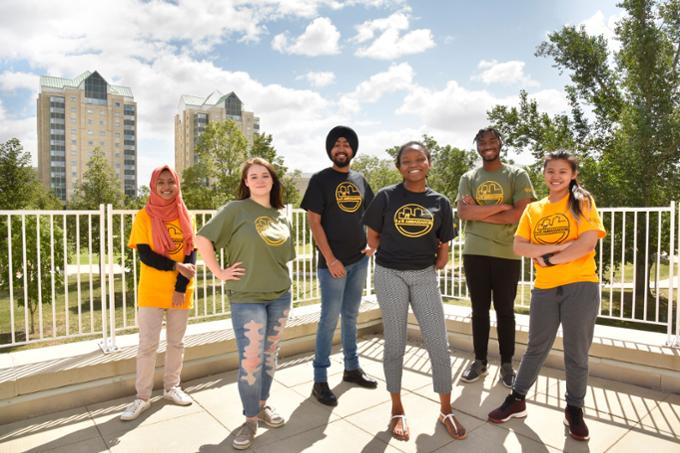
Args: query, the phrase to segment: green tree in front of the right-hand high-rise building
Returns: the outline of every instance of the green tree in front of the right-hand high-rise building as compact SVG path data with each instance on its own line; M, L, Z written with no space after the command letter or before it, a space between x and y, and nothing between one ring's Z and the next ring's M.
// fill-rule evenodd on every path
M196 163L182 175L184 201L191 209L215 209L236 197L248 142L232 120L208 123L196 145Z

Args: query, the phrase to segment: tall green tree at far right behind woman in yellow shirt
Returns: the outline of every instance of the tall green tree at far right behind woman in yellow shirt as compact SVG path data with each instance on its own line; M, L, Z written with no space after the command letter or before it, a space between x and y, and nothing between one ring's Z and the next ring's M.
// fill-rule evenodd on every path
M616 26L619 50L612 53L604 37L574 26L550 33L537 49L569 76L570 112L541 114L523 95L519 109L497 106L489 119L510 146L537 159L557 147L574 150L602 206L668 205L680 195L680 0L620 6L626 15ZM656 232L649 235L655 240ZM638 239L630 259L644 250L644 235ZM648 288L646 264L637 260L638 298Z

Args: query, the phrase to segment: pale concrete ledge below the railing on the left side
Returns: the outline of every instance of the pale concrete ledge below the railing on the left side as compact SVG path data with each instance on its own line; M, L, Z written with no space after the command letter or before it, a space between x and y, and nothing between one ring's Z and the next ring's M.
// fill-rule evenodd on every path
M318 305L295 308L281 341L281 357L314 350ZM380 333L377 304L362 304L360 335ZM102 354L97 341L8 353L0 368L0 424L80 407L135 393L135 365L139 336L117 337L120 349ZM340 341L339 329L334 343ZM237 368L236 340L230 320L192 324L185 336L185 381ZM162 386L165 341L156 360L155 388ZM312 370L309 370L310 380Z

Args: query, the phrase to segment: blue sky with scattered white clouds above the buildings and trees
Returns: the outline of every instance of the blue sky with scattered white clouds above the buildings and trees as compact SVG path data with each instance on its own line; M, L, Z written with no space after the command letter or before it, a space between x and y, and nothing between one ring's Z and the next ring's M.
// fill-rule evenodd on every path
M132 88L139 183L173 164L182 94L235 91L289 167L327 166L327 131L347 124L359 152L423 133L469 147L485 112L526 89L566 110L567 79L534 52L547 33L583 24L611 39L615 1L2 0L0 140L35 155L40 75L98 70ZM614 41L611 46L616 46Z

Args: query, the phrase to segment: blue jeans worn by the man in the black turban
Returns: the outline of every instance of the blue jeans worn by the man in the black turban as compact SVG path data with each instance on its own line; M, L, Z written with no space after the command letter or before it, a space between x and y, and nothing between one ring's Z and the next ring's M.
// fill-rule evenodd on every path
M314 355L314 382L328 381L328 367L331 366L330 354L333 334L342 314L341 337L342 352L345 356L345 369L359 368L357 354L357 316L361 296L366 284L368 258L363 257L356 263L345 266L345 276L333 278L328 269L319 268L321 287L321 317L316 330L316 354Z

